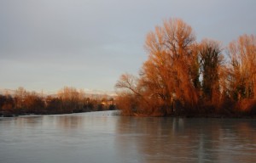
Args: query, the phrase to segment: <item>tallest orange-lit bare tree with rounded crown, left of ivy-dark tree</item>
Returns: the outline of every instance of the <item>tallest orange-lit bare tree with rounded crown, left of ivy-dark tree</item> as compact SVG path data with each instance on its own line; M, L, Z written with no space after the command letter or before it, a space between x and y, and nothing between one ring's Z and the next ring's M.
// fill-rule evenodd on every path
M145 47L149 56L143 65L144 81L154 81L160 88L160 98L167 106L167 112L173 105L174 95L183 103L183 109L196 107L198 63L191 26L179 19L166 20L162 27L156 27L155 32L148 34Z

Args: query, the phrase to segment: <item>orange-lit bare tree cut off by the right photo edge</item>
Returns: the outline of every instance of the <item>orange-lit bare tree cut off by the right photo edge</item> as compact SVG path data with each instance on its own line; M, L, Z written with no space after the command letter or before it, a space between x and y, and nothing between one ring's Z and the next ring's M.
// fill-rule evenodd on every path
M232 98L256 99L256 37L243 35L230 42L229 54Z

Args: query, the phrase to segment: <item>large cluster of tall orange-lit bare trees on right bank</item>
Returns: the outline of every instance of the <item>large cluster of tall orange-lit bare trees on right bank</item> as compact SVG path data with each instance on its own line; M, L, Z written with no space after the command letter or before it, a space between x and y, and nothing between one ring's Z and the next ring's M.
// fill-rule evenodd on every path
M256 114L256 37L223 48L195 41L191 26L171 19L148 33L139 76L116 83L123 115L241 116Z

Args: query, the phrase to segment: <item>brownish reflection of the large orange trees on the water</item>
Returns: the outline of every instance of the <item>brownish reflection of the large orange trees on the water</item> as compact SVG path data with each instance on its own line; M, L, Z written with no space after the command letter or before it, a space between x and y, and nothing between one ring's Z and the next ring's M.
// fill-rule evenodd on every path
M117 150L124 162L255 160L255 128L241 120L121 117Z

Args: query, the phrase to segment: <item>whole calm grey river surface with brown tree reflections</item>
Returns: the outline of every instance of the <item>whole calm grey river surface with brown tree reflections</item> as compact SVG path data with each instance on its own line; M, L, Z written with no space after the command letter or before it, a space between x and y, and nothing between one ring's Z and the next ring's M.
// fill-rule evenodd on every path
M111 111L0 118L1 163L255 161L256 120L120 117Z

